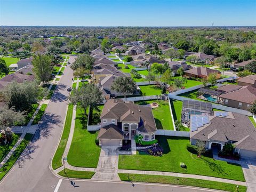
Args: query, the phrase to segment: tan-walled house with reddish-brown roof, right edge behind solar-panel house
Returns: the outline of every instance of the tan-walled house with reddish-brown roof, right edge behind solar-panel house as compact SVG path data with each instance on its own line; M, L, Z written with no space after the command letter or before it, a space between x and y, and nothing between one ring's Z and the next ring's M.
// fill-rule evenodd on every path
M256 88L252 85L226 85L217 90L222 91L218 103L228 107L248 110L256 100Z

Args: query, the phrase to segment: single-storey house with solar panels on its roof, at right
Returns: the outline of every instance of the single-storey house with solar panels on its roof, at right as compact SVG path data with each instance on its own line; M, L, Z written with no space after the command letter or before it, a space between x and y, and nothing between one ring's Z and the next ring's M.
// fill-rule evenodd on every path
M256 131L250 119L241 114L214 111L213 116L192 115L190 142L204 141L207 149L222 150L227 143L241 157L256 158Z

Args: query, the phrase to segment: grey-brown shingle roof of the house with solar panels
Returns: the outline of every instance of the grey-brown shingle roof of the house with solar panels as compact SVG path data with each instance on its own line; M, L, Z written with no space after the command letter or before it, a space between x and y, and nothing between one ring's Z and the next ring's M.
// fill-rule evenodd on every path
M210 123L190 131L191 139L221 142L233 141L238 149L256 151L256 131L250 119L241 114L231 113L228 117L212 116Z

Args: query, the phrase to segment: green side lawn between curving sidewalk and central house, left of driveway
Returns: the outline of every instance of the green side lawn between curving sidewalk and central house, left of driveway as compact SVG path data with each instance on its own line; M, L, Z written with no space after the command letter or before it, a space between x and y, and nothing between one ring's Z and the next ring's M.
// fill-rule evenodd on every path
M100 147L95 144L98 132L86 130L87 116L81 108L76 110L75 131L68 153L68 163L78 167L97 167Z

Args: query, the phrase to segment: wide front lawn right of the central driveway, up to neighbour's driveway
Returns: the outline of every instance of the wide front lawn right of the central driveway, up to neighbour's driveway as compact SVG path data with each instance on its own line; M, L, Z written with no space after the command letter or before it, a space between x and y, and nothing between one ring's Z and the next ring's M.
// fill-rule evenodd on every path
M157 136L156 139L164 149L162 157L145 153L119 155L118 169L178 172L245 181L240 165L211 157L198 158L197 154L190 153L188 138ZM181 162L186 164L186 169L180 167Z

